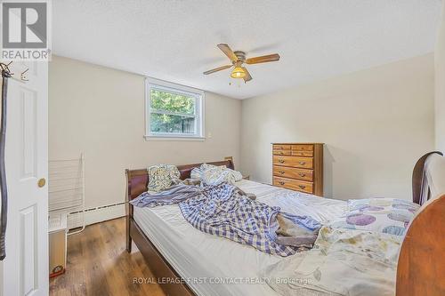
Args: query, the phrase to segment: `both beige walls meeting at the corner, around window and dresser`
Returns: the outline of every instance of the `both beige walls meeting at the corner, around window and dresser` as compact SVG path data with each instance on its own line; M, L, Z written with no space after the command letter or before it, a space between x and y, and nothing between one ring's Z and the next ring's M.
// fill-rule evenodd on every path
M85 151L87 207L123 201L124 169L157 163L234 156L270 182L273 141L327 143L326 196L409 199L412 165L434 148L433 68L429 54L248 100L206 93L212 138L172 142L143 139L142 76L54 57L49 155Z

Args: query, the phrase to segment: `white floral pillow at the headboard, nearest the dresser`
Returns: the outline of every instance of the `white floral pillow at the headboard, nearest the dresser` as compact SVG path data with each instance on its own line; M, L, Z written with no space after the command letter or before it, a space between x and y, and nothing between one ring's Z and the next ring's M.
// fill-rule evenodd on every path
M190 172L190 178L201 180L204 185L219 185L223 182L234 184L242 180L243 176L241 172L233 171L224 165L201 164Z

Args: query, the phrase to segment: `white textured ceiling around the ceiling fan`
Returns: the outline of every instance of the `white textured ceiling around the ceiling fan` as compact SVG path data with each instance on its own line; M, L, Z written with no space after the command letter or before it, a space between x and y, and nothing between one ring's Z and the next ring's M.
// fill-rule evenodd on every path
M433 52L441 0L57 0L53 53L244 99ZM247 57L244 84L216 44ZM231 82L231 85L229 84Z

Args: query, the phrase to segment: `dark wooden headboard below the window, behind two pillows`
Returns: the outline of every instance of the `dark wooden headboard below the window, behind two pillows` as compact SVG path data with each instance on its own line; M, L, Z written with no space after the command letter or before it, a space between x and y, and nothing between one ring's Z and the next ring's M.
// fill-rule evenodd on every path
M219 162L211 162L206 164L214 164L214 165L225 165L226 167L234 170L235 166L233 164L233 160L230 158L219 161ZM183 164L177 165L179 172L181 173L181 180L185 180L190 178L190 172L196 167L201 166L201 164ZM141 170L125 170L126 181L127 181L127 200L133 200L137 196L141 195L142 192L148 190L149 185L149 172L147 169Z

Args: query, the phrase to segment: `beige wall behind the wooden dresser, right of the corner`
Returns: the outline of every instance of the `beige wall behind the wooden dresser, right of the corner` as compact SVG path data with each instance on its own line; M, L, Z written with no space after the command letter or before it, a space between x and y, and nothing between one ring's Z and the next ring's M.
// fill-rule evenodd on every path
M433 96L428 54L243 100L241 168L271 182L271 142L324 142L325 196L410 199L434 148Z

